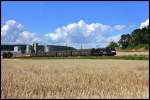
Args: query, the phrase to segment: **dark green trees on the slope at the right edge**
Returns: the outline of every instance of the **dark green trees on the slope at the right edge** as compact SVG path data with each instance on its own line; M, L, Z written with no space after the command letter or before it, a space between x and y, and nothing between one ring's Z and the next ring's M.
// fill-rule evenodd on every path
M118 42L110 42L108 47L122 49L126 48L145 48L149 49L149 26L142 29L135 29L131 34L121 35L121 39Z

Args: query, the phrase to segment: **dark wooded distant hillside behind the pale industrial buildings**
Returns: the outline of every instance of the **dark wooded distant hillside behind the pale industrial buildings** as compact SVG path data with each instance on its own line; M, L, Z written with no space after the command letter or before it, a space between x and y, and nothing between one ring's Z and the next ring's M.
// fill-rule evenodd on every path
M14 46L19 46L22 53L25 53L26 45L1 45L1 51L12 51ZM64 50L75 50L73 47L48 45L50 51L64 51ZM38 45L38 50L44 50L44 45Z

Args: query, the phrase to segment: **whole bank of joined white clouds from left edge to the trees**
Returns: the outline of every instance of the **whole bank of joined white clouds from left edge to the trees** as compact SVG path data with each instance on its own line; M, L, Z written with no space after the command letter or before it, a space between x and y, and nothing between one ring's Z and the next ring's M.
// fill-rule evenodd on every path
M84 20L74 22L57 28L54 32L38 36L36 33L27 31L24 26L15 20L8 20L1 27L2 43L32 43L43 42L46 44L65 45L79 48L91 48L100 45L104 47L110 41L118 41L120 35L112 35L114 31L121 31L125 25L105 25L102 23L86 23ZM65 43L65 44L64 44Z

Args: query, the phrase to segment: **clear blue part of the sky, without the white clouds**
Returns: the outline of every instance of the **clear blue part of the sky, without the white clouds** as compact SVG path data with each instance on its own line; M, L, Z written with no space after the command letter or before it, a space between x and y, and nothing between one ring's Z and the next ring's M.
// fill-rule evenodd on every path
M45 34L57 34L57 28L63 30L63 26L67 27L69 24L79 23L81 20L88 25L92 23L100 23L111 27L124 25L124 30L114 30L109 32L109 34L105 33L108 36L115 36L130 33L133 29L140 27L140 24L149 18L147 1L5 1L1 5L2 26L9 20L15 20L16 23L23 25L25 31L35 33L40 37L45 36ZM50 37L52 38L52 36ZM65 37L65 39L68 38ZM47 41L50 44L53 43L52 40ZM71 42L70 38L69 41ZM64 41L59 42L63 43Z

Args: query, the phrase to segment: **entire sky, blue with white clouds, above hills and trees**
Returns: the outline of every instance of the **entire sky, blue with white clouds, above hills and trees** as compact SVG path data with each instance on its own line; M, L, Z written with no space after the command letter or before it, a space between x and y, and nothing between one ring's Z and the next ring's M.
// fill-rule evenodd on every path
M105 47L149 25L148 1L3 1L1 43Z

